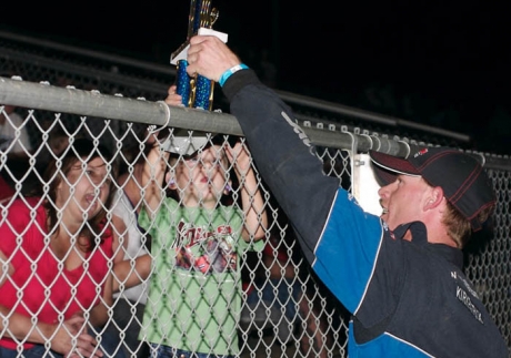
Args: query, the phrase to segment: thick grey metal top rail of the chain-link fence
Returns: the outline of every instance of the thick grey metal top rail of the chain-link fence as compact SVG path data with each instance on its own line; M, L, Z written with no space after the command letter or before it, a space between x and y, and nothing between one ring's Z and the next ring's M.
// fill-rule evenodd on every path
M126 122L139 122L156 126L171 126L209 133L242 136L240 125L231 114L196 109L172 108L164 102L124 99L72 88L58 88L44 83L31 83L0 78L0 102L13 105L72 113ZM409 144L385 137L318 130L302 125L303 131L315 145L379 152L407 156Z

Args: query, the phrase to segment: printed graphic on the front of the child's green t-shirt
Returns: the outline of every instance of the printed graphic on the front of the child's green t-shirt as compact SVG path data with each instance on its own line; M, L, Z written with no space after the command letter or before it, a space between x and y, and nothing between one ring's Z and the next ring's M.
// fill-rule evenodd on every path
M232 228L216 228L180 222L176 238L176 267L203 274L226 273L237 267Z

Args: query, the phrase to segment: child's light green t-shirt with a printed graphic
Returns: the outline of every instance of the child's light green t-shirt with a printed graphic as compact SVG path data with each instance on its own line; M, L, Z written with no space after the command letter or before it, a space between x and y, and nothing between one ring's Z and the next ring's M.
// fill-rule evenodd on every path
M188 351L236 355L241 309L241 254L261 250L263 241L241 237L236 206L214 209L179 206L166 198L151 221L152 273L140 339Z

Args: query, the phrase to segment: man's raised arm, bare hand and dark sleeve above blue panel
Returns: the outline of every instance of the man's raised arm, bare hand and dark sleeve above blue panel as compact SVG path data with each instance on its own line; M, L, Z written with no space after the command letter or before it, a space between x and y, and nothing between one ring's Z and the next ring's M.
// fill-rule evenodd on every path
M340 181L323 174L315 147L291 109L219 39L190 39L188 73L220 83L264 183L292 223L309 260L324 228ZM311 209L313 208L313 209ZM348 216L343 216L348 219Z

